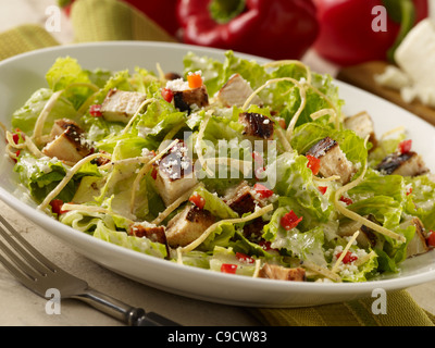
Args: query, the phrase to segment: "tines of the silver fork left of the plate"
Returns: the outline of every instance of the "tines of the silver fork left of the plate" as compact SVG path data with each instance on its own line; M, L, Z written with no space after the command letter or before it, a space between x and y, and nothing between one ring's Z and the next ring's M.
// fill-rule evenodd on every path
M36 250L26 239L23 238L21 234L18 234L5 220L0 215L0 222L4 225L4 227L9 231L9 233L1 227L0 225L0 234L3 238L10 244L10 246L21 254L21 257L27 262L27 264L32 265L39 274L35 274L30 271L29 266L26 265L17 256L3 244L3 251L8 253L8 256L13 259L27 274L33 276L34 278L37 275L45 275L47 272L55 272L57 266L51 263L48 259L46 259L38 250Z

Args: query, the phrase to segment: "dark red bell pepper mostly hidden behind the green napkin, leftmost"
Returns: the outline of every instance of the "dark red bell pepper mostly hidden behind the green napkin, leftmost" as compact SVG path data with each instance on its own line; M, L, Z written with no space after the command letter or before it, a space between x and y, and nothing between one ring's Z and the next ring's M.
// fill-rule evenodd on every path
M63 8L66 14L70 14L71 5L75 0L58 0L59 5ZM137 10L144 12L149 18L154 21L160 27L169 34L176 36L178 23L176 20L175 9L177 0L121 0Z

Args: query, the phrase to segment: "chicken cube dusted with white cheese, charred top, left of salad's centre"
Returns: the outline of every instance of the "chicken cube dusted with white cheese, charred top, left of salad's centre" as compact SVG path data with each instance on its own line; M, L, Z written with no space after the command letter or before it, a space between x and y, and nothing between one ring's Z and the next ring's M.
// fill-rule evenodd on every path
M178 142L157 162L156 187L166 207L198 183L187 152L184 144Z

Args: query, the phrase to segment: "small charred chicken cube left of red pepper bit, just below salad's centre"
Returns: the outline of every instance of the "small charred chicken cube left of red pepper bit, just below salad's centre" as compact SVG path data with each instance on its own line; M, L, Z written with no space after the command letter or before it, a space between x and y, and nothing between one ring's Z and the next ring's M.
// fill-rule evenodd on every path
M223 201L240 216L253 212L259 203L247 182L229 188L223 197Z

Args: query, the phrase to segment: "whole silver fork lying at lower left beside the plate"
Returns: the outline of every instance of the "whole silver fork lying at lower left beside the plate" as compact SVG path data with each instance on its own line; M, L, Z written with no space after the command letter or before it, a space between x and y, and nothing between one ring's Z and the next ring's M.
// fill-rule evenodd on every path
M3 216L0 215L0 262L23 285L41 297L46 297L48 289L59 290L61 298L73 298L111 315L130 326L178 326L179 324L135 308L117 299L104 295L88 286L80 279L44 257L20 233L17 233ZM9 246L8 246L9 244Z

